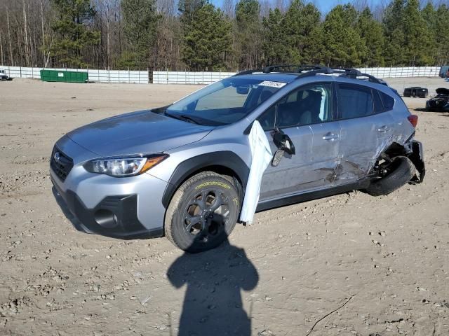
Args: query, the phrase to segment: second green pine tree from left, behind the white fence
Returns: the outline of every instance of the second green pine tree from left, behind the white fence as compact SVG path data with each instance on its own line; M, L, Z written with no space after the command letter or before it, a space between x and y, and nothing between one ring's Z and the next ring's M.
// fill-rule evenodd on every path
M145 69L150 64L159 15L154 0L121 0L123 31L129 50L121 56L121 68Z

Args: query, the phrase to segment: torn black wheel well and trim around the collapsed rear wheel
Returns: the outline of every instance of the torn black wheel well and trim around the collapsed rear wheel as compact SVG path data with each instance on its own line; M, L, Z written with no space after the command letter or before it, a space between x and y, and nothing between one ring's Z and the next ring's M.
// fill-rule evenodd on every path
M413 176L410 180L411 183L421 183L425 175L424 158L422 152L422 144L419 141L412 140L411 138L401 145L397 142L392 143L379 155L373 168L372 176L379 176L382 172L382 165L388 164L392 159L398 156L405 156L417 170L418 176Z

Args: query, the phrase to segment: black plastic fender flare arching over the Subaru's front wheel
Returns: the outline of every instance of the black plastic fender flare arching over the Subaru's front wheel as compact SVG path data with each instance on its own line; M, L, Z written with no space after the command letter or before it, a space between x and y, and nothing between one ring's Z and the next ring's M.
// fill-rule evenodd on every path
M166 190L163 192L163 207L167 209L175 191L187 177L192 176L195 172L206 170L208 167L222 167L231 170L241 182L243 190L245 190L250 168L241 160L239 155L232 151L205 153L189 158L177 165L168 180Z

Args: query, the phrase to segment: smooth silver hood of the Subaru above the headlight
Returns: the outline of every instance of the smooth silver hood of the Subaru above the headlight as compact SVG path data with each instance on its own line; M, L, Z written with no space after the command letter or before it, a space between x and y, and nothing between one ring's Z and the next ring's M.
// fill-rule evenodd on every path
M151 110L126 113L79 127L67 134L100 156L159 153L206 137L213 127L195 125Z

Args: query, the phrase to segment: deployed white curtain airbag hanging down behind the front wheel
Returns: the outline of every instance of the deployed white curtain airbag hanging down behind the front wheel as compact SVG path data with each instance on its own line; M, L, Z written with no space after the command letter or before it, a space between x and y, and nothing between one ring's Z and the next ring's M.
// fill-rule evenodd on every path
M240 221L244 223L253 221L257 202L259 202L262 175L273 157L267 136L257 120L253 123L248 138L251 150L251 167L240 213Z

